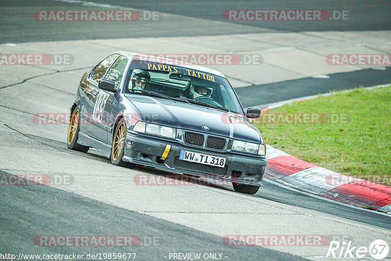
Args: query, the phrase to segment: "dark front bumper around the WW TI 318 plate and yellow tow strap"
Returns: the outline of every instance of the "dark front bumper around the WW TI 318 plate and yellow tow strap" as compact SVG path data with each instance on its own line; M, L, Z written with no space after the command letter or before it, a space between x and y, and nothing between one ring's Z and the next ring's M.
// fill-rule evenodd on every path
M171 149L165 160L161 160L166 145ZM212 154L226 158L224 168L179 160L180 150ZM228 152L215 152L184 146L175 141L164 141L157 138L126 133L124 161L172 171L208 177L216 180L237 182L249 185L262 185L266 159L262 156L239 155Z

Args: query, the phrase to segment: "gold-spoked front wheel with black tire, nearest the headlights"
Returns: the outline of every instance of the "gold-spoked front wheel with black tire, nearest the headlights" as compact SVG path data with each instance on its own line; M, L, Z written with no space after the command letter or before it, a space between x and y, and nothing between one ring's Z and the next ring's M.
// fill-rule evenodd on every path
M125 167L127 164L122 160L125 153L126 125L124 119L121 119L113 132L113 142L111 145L110 159L116 166Z

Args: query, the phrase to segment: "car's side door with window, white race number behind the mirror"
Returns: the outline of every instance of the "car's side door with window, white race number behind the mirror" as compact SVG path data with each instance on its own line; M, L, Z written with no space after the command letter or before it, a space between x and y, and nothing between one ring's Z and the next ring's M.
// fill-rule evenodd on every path
M121 86L122 78L125 74L125 69L127 67L129 59L123 55L120 55L117 60L111 65L109 71L106 73L104 79L113 81L115 83L115 89L118 90ZM98 98L95 108L99 108L99 113L103 112L104 120L101 121L102 127L107 131L106 140L104 141L107 144L111 144L112 129L114 121L117 117L113 113L115 110L116 99L120 98L118 92L109 92L106 90L99 90ZM99 114L98 114L99 115Z

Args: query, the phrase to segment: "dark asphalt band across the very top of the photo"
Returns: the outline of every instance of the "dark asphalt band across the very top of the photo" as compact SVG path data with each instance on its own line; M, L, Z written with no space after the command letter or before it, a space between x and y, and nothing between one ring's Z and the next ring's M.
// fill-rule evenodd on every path
M389 30L391 28L388 0L300 0L300 1L213 1L174 0L174 1L135 1L135 0L97 0L96 3L128 7L132 9L153 10L178 15L178 21L162 19L159 22L31 22L31 13L37 10L80 10L96 9L99 6L84 6L69 1L26 1L2 0L0 2L1 35L0 43L22 43L37 41L113 39L136 37L170 37L197 35L225 35L257 32L300 32L300 31L363 31ZM77 9L72 9L77 8ZM104 9L104 8L103 8ZM328 21L226 21L222 13L231 9L312 9L348 10L348 20ZM180 16L199 18L200 23L192 24L180 20ZM218 21L219 26L211 26L202 21ZM240 24L233 28L229 24Z

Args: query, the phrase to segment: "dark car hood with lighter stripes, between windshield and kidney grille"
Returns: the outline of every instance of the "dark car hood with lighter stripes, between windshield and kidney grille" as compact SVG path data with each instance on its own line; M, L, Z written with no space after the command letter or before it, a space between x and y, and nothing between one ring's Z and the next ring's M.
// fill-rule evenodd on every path
M261 141L257 128L243 115L137 94L125 94L125 97L139 110L145 122L256 143ZM202 126L209 130L203 130Z

